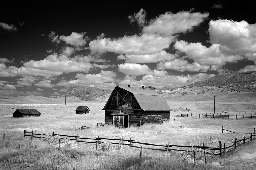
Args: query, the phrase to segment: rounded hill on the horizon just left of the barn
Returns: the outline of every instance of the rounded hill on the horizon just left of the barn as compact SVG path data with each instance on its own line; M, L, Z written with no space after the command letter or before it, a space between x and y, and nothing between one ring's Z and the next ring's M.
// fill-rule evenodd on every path
M101 89L89 86L79 86L74 90L67 92L63 96L75 96L81 98L81 100L95 100L96 97L102 97L106 94L110 94L112 91L108 89Z

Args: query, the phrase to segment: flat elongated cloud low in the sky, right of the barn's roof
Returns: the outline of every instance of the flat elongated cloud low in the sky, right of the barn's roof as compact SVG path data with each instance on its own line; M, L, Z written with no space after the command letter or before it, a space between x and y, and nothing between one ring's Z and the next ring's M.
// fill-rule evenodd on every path
M157 68L160 70L173 69L178 71L196 71L196 72L206 72L210 69L210 66L201 65L197 62L188 63L186 60L174 59L172 61L167 61L164 63L158 63Z

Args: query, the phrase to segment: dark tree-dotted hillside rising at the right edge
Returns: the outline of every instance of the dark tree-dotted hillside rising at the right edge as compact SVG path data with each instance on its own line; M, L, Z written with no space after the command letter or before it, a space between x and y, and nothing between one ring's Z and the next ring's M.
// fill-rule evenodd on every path
M226 86L229 91L256 92L256 71L248 71L236 75L216 75L210 79L190 84L191 87Z

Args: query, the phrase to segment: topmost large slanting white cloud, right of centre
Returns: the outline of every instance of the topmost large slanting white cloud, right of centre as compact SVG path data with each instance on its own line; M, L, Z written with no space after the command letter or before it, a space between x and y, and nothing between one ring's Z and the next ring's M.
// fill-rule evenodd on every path
M160 34L162 36L171 36L175 33L186 32L198 26L209 13L190 13L190 11L165 14L152 19L148 26L143 28L143 32L147 34Z

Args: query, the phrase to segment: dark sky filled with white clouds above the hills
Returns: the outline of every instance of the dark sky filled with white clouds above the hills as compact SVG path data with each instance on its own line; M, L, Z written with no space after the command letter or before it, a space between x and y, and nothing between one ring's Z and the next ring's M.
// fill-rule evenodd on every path
M0 10L0 96L181 87L256 71L250 1L16 4Z

